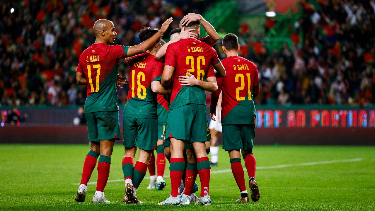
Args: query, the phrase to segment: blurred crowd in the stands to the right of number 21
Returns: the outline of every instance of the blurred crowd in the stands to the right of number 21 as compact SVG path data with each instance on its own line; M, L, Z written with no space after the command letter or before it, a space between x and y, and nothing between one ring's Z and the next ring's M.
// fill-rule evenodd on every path
M267 53L266 44L241 43L242 55L258 66L258 104L362 106L375 102L374 0L317 3L319 7L300 1L303 15L291 29L293 48L284 43L281 51ZM241 36L254 34L247 30Z

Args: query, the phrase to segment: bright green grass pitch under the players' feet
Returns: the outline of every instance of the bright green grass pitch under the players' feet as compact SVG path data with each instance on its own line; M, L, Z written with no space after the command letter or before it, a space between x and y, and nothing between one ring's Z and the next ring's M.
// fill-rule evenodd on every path
M91 202L95 184L86 202L75 202L87 151L88 145L0 145L0 210L375 210L374 146L256 146L261 197L250 203L236 202L239 189L221 149L219 166L211 168L208 207L157 205L170 193L169 178L163 191L147 190L145 179L137 191L145 203L123 204L121 145L114 148L105 189L112 203ZM97 175L95 169L90 182Z

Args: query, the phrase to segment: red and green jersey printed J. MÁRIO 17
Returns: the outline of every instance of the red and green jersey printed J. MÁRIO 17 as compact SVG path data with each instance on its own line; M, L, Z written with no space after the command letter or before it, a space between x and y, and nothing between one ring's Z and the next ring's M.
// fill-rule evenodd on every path
M77 72L87 81L85 113L118 111L116 80L118 60L126 57L129 47L92 44L80 56Z

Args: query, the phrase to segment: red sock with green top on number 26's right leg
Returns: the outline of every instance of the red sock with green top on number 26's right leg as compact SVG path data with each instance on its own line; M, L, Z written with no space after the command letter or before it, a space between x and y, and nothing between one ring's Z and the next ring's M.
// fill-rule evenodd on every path
M208 160L208 157L201 157L196 159L196 163L199 179L201 180L201 196L206 196L210 194L210 160Z

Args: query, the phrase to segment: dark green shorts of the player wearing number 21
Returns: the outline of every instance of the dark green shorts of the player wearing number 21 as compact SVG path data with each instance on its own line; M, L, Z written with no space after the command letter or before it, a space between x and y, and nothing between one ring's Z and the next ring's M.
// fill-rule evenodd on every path
M223 149L249 149L254 147L255 125L222 125Z

